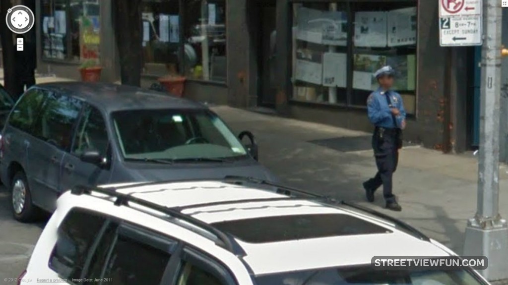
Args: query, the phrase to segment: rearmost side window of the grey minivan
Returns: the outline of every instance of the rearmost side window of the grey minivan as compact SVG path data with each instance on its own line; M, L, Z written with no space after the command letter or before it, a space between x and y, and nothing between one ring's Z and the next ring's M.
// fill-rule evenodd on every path
M22 131L29 132L32 124L39 115L39 109L43 100L44 94L40 89L32 88L26 91L12 111L9 118L9 125Z

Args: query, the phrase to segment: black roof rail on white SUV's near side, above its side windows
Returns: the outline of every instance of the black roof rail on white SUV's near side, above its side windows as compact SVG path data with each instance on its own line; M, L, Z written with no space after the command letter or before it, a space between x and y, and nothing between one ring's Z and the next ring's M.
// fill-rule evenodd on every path
M138 205L156 210L158 212L165 213L166 215L171 216L172 218L176 218L178 220L184 221L186 223L189 223L195 227L198 227L208 233L211 233L214 235L217 240L215 241L215 244L217 244L220 247L225 248L229 252L233 253L237 256L245 256L245 251L243 251L242 247L236 242L236 240L229 234L220 231L216 227L207 224L199 219L196 219L192 216L185 215L181 211L178 210L178 208L171 208L162 206L144 199L133 197L129 194L123 194L116 192L116 188L99 188L99 187L84 187L84 186L77 186L71 190L71 193L74 195L82 195L82 194L88 194L91 195L93 192L98 192L101 194L106 194L108 196L115 197L116 200L114 201L114 205L116 206L129 206L129 202L136 203ZM152 215L154 217L160 218L159 216L154 215L153 213L150 213L148 211L143 211L145 213L148 213L149 215ZM189 228L187 228L189 229ZM190 228L189 230L192 230L196 232L194 229ZM199 234L199 232L197 232ZM206 235L203 235L204 237L207 237Z

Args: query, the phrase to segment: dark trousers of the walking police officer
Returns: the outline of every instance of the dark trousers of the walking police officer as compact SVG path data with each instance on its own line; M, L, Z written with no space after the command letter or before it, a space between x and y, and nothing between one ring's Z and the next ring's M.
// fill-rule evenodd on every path
M387 202L395 200L392 193L392 176L399 162L399 135L400 129L380 127L376 127L372 134L377 173L367 181L366 186L376 190L383 185L383 195Z

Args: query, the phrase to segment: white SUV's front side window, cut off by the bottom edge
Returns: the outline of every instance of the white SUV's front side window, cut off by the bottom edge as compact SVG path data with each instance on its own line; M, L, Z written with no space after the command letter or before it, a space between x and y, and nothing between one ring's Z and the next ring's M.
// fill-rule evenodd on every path
M231 274L205 254L185 248L177 279L178 285L232 285Z

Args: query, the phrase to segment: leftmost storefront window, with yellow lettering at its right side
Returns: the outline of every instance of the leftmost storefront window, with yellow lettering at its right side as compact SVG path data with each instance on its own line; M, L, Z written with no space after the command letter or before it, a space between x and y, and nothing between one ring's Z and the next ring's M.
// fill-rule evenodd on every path
M97 0L41 2L42 57L67 61L99 60Z

